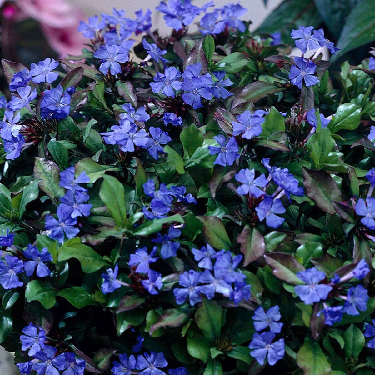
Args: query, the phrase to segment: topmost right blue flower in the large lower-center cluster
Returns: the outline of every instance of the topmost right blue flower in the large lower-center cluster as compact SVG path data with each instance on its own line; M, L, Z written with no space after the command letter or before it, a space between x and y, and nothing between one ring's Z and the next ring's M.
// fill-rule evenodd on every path
M246 279L246 275L236 272L242 258L242 255L232 256L230 251L227 251L224 254L219 252L213 267L215 278L223 278L223 280L229 284L244 281Z

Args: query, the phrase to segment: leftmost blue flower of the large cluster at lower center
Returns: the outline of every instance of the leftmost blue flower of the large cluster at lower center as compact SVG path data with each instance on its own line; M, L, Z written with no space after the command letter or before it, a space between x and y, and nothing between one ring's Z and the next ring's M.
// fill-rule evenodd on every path
M199 287L201 274L190 270L189 272L184 272L180 275L180 280L178 284L184 288L175 288L173 290L174 297L176 299L176 303L178 305L182 305L186 297L189 297L189 302L191 306L194 306L198 302L202 302L200 292L201 287Z

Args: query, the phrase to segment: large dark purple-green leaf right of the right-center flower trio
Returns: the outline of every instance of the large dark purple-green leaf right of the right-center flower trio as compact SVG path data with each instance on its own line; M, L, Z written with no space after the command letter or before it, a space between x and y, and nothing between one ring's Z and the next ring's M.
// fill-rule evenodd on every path
M336 213L332 201L342 201L341 190L335 180L324 171L302 168L306 195L314 199L317 206L331 215Z

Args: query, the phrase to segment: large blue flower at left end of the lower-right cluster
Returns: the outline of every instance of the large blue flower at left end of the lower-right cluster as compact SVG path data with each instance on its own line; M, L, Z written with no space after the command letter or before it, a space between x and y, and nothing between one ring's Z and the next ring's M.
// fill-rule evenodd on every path
M297 277L307 284L294 287L295 293L306 305L326 300L332 290L330 285L318 284L326 278L326 274L323 271L319 271L316 267L297 272Z

